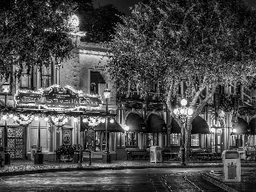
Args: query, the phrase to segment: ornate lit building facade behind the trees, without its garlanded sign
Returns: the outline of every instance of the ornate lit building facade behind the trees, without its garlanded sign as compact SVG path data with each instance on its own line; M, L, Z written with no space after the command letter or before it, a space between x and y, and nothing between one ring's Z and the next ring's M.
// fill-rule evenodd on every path
M10 114L11 109L17 108L19 104L15 100L18 90L47 90L57 84L56 86L63 88L64 92L68 90L65 88L68 85L87 96L99 96L102 99L101 105L97 108L81 107L82 109L78 109L82 110L79 115L68 114L67 108L57 107L55 110L58 111L59 117L63 118L65 114L65 119L67 118L65 122L59 121L58 124L49 119L45 120L45 115L39 115L39 119L33 118L30 122L20 124L10 117L2 118L0 145L4 147L7 139L7 150L11 158L33 160L35 148L40 147L44 160L55 161L55 150L63 143L81 144L84 149L92 151L92 158L99 159L106 148L112 154L112 160L125 160L126 150L131 148L147 149L151 146L160 146L178 152L181 129L172 119L166 104L160 101L160 93L157 90L152 91L145 99L140 93L129 88L116 92L105 69L108 61L107 50L99 44L76 44L73 58L64 61L58 67L53 63L50 67L32 68L30 73L24 69L20 81L15 79L9 94L1 95L0 102L3 108L10 110ZM103 93L107 88L111 90L108 101L105 100ZM191 148L204 148L218 154L230 148L253 148L256 145L254 92L253 89L245 90L242 87L239 90L220 87L212 98L212 105L204 108L201 115L192 123ZM230 96L240 98L241 102L237 105L239 113L234 115L226 112L222 116L222 109L226 107L224 103L228 101L224 98L231 98ZM220 103L218 106L217 100ZM235 104L231 102L230 106ZM37 105L36 108L43 107ZM32 113L32 110L29 112ZM108 123L107 131L104 123L93 119L97 114L104 118L106 113L112 114L114 119L113 123ZM55 117L52 112L51 114ZM237 118L236 125L234 117ZM4 137L5 129L7 137Z

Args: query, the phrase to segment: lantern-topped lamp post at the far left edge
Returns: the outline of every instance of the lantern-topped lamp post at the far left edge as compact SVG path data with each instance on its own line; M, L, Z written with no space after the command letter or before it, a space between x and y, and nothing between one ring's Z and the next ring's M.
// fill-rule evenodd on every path
M7 95L9 93L9 87L10 85L8 83L4 83L2 85L3 93L4 93L4 110L7 110ZM8 128L7 128L7 116L3 115L4 119L4 165L10 165L10 154L7 151L8 147Z

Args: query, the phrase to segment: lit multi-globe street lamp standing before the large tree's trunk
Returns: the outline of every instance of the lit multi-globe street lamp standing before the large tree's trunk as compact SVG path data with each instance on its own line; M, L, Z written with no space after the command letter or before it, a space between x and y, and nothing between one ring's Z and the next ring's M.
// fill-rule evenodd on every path
M185 166L185 147L184 147L184 142L185 142L185 126L187 125L187 119L191 117L191 115L194 113L192 108L187 108L187 100L182 99L180 101L181 107L180 108L174 108L173 113L175 116L180 119L181 122L181 146L180 146L180 151L181 151L181 165Z

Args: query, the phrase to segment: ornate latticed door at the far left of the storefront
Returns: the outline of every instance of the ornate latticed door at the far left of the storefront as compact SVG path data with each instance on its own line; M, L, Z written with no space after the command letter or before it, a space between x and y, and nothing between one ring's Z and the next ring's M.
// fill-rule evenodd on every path
M11 159L24 158L24 127L8 126L8 147L7 150Z

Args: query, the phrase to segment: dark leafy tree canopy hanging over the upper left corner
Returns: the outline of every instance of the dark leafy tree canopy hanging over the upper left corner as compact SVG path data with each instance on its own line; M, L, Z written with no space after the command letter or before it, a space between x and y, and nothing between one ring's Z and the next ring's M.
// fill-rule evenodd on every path
M4 0L0 13L0 78L19 78L23 68L48 67L70 57L73 43L69 0ZM12 72L15 65L16 71Z

